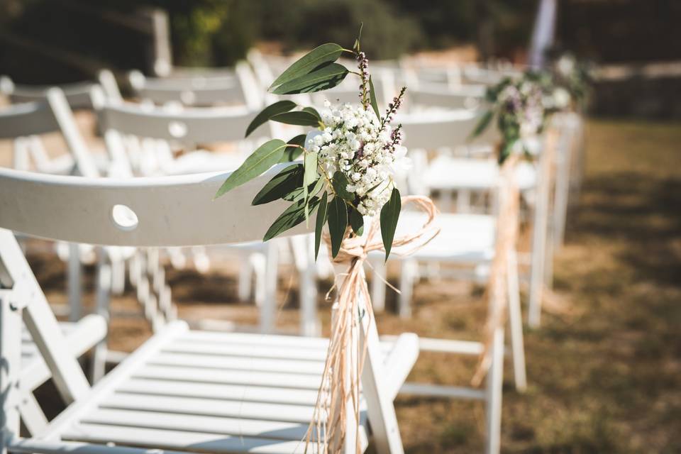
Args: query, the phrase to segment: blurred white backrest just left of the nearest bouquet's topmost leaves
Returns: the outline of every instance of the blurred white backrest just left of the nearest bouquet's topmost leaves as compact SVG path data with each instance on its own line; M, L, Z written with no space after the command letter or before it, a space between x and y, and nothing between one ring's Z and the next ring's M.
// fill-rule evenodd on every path
M262 94L248 63L239 62L234 74L204 77L200 74L184 77L145 77L141 72L130 74L131 87L141 99L156 104L180 102L186 106L242 104L260 109Z

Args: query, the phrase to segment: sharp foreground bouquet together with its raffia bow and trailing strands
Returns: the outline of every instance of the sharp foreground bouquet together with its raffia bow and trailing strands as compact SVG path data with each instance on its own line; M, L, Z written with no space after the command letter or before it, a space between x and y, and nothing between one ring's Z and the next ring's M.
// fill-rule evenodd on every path
M353 57L356 70L348 70L337 62L344 54ZM337 275L338 299L334 304L326 365L305 440L306 448L313 443L316 450L325 453L343 448L348 414L354 414L357 425L360 421L359 381L366 345L357 339L366 334L373 321L362 266L367 254L383 250L387 260L393 245L402 246L401 253L409 253L438 233L433 226L436 209L432 201L423 196L400 196L394 181L397 172L408 165L406 148L402 146L402 126L391 124L406 87L382 113L367 57L360 50L360 37L352 49L335 43L315 48L279 75L270 92L280 95L321 92L336 87L348 74L360 79L356 105L332 105L327 100L320 112L284 99L255 116L246 136L267 121L314 130L286 142L274 139L264 143L226 179L216 194L217 198L277 163L289 163L253 199L253 205L278 199L291 202L263 240L314 218L315 258L323 240L333 262L347 265L347 271ZM419 231L395 238L402 204L406 203L426 211L428 220ZM375 238L379 231L381 238Z

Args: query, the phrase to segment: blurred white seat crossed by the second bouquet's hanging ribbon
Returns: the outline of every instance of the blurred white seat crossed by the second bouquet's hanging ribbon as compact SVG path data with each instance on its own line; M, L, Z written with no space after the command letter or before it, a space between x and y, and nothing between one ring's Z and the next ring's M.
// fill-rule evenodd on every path
M499 165L495 160L478 160L441 156L430 165L424 181L431 189L487 190L499 179ZM536 185L536 170L529 162L520 162L516 168L516 183L521 191Z

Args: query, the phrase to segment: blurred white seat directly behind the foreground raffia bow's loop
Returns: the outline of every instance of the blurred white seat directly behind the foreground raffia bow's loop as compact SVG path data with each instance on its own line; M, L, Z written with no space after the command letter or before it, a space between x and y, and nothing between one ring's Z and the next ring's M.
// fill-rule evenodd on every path
M426 214L418 211L402 211L397 223L395 237L417 231L426 222ZM485 214L438 214L436 225L440 233L423 248L402 258L419 261L453 263L488 262L494 257L495 219ZM409 246L407 246L409 248ZM394 248L391 257L401 258L400 248ZM383 253L371 253L383 255Z

